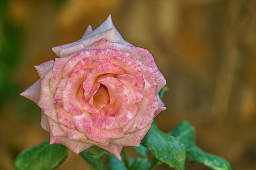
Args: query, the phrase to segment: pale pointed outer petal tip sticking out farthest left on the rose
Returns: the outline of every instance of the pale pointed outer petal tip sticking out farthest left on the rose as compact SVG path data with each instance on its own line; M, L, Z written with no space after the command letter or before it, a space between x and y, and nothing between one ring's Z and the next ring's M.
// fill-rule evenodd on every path
M40 98L40 84L41 80L38 79L34 84L27 88L27 90L20 93L20 95L38 104Z

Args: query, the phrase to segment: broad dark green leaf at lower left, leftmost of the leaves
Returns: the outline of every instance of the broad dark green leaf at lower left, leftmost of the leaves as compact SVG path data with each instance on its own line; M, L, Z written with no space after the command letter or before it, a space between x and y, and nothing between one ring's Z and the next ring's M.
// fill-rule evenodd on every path
M16 170L53 170L67 158L62 144L49 145L49 140L22 151L15 160Z

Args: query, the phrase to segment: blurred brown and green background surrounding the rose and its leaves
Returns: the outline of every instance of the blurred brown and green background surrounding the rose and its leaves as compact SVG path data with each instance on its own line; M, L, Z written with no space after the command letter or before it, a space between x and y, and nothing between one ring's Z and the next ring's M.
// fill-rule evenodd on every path
M38 79L34 65L54 60L52 47L80 39L111 13L124 39L148 49L166 77L159 128L186 119L203 150L233 170L256 170L255 7L254 0L0 0L0 169L14 170L21 150L49 137L38 106L19 96ZM88 167L70 152L57 170Z

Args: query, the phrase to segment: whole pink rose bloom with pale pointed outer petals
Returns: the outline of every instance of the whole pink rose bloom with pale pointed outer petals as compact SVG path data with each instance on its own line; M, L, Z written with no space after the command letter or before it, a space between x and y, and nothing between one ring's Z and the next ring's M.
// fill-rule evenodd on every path
M148 50L125 41L111 15L52 50L58 58L35 66L40 79L20 94L42 109L50 144L76 154L95 145L119 159L123 146L139 146L166 109L158 96L166 81Z

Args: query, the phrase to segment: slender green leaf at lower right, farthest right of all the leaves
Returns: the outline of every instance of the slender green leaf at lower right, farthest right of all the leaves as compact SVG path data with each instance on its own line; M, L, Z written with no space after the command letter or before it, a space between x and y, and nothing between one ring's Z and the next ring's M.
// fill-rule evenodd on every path
M229 163L225 159L206 153L197 146L193 146L187 151L187 157L191 162L201 162L214 170L231 170Z

